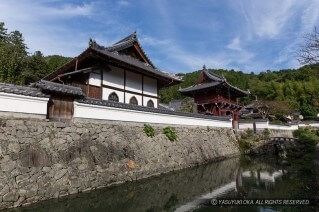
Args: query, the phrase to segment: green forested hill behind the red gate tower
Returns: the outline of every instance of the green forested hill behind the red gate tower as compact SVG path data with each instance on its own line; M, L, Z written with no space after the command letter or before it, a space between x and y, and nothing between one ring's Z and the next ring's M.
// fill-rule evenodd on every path
M300 110L308 117L314 116L319 109L319 64L299 69L265 71L259 74L222 69L209 69L209 71L223 75L236 87L249 89L252 95L241 99L242 103L249 103L257 95L260 100L276 102L277 106L283 105L287 114ZM178 75L184 77L184 82L162 89L160 91L162 102L168 103L172 99L185 98L178 92L179 87L193 85L199 79L200 71Z

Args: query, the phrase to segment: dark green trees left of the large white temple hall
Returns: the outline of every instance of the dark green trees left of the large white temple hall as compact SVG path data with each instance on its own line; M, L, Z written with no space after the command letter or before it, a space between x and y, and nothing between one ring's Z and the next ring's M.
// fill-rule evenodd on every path
M44 57L40 51L29 55L19 31L8 32L0 22L0 82L30 84L55 71L70 58Z

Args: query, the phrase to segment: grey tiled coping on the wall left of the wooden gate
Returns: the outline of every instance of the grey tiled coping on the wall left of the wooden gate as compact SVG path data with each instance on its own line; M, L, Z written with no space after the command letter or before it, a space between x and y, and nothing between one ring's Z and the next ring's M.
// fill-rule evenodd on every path
M28 86L13 85L7 83L0 83L0 92L18 94L24 96L40 97L40 98L49 98L49 95L46 95L41 92L41 90Z

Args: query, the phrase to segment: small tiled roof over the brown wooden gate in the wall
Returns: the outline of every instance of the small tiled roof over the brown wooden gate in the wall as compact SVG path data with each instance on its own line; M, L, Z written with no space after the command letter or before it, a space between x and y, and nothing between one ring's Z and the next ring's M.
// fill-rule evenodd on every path
M62 93L73 96L84 96L81 88L70 85L63 85L60 83L50 82L46 80L39 81L36 86L43 91L51 91L55 93Z

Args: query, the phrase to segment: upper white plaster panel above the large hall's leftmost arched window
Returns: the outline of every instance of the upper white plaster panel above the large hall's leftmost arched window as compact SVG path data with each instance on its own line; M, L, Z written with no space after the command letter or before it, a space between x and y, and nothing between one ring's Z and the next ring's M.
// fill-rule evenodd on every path
M124 70L110 66L110 70L103 71L103 85L124 89Z

